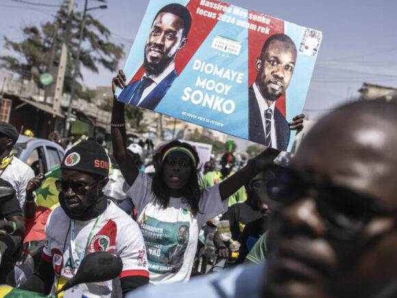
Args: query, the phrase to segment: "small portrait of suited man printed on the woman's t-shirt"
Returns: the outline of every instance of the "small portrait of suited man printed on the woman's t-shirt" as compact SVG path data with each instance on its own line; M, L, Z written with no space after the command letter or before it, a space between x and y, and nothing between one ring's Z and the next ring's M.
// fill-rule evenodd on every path
M183 255L186 247L188 247L188 240L189 227L187 225L181 225L178 230L178 244L167 249L162 263L172 265L173 271L179 271L183 264Z

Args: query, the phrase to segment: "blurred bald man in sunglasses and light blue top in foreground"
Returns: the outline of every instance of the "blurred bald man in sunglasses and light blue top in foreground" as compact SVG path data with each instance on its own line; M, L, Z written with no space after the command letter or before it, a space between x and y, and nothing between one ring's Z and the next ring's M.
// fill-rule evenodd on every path
M345 105L311 129L291 166L269 166L266 265L136 297L396 297L396 115L396 103Z

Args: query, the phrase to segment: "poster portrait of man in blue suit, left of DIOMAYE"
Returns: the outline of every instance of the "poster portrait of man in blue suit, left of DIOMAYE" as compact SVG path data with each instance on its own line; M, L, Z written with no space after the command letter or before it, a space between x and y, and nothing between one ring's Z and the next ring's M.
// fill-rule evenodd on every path
M177 78L175 56L188 42L191 25L192 17L183 5L168 4L157 12L144 48L145 74L123 89L119 101L156 108Z

